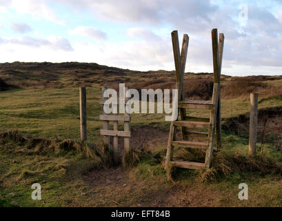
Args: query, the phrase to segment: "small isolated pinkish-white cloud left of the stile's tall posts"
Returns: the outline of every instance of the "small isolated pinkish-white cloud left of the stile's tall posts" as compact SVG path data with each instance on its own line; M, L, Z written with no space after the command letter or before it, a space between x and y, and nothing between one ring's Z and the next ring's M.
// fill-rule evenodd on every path
M74 30L69 30L68 33L70 35L81 35L97 40L107 39L107 35L105 32L98 30L97 28L94 27L79 26Z

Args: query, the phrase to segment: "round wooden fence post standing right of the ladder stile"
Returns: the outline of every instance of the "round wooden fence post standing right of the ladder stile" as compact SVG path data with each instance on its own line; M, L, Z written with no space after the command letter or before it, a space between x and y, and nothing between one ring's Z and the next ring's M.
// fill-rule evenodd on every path
M250 138L249 138L249 155L256 153L256 135L258 122L258 94L250 94Z

